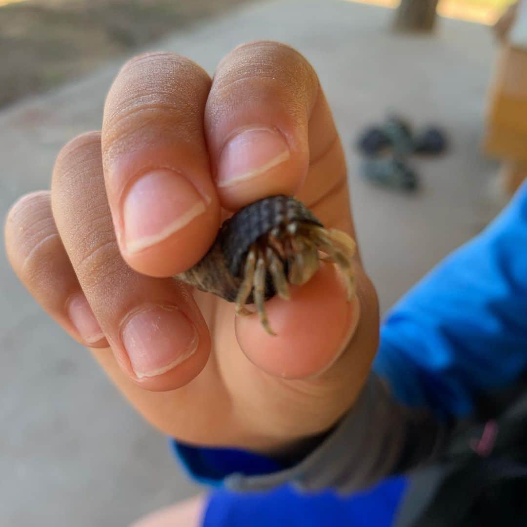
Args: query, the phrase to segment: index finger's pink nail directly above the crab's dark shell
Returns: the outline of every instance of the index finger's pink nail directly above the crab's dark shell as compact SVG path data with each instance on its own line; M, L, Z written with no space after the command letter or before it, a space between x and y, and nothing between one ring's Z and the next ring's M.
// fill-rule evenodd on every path
M235 135L218 163L218 187L256 178L290 157L284 136L273 128L251 128Z

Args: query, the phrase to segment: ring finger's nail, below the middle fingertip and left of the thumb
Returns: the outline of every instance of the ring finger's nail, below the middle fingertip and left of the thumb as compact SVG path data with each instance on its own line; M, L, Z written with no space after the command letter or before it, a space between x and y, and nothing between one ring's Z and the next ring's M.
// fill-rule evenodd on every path
M198 331L176 308L152 306L126 323L123 344L138 378L168 372L198 349Z

